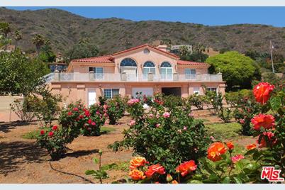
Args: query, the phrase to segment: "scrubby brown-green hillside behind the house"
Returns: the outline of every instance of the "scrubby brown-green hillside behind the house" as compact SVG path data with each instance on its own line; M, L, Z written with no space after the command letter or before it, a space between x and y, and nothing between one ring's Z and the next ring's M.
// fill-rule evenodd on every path
M12 30L23 33L19 45L25 51L35 50L31 38L36 33L49 38L55 51L65 52L80 38L88 37L98 45L101 54L116 52L126 47L169 39L172 44L203 43L214 50L227 48L245 52L255 49L269 52L269 40L276 52L285 55L285 28L265 25L240 24L203 26L194 23L164 21L129 21L119 18L91 19L59 9L14 11L0 8L0 21L11 23Z

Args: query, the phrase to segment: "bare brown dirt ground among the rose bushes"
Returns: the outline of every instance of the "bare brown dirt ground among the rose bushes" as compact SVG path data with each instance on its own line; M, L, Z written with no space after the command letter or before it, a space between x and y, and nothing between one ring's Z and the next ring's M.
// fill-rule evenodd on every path
M206 119L206 123L220 122L216 116L207 116L205 113L194 113L195 118ZM129 161L132 157L130 150L113 152L107 148L108 144L123 139L123 129L128 128L130 118L124 117L118 125L106 125L116 128L115 131L99 137L79 136L71 145L67 156L59 161L54 161L55 169L77 174L98 183L91 176L86 176L87 169L98 169L92 162L93 157L98 157L98 150L103 150L102 164L112 162ZM35 145L35 140L22 137L23 134L38 128L37 123L30 125L0 125L0 183L88 183L76 176L62 174L50 168L49 155L44 149ZM236 143L247 145L253 143L251 138L241 137ZM104 183L110 183L118 179L125 179L128 172L111 170L110 178L104 179Z

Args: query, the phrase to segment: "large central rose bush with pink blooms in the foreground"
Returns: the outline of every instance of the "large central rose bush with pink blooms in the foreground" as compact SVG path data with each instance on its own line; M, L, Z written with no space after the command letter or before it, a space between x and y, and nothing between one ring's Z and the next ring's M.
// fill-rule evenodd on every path
M145 113L143 101L130 99L128 113L133 120L128 124L130 128L123 132L124 140L110 147L113 150L132 148L136 155L145 157L149 166L160 164L166 173L155 180L165 182L167 174L178 179L176 167L179 164L189 160L197 162L199 157L206 155L206 145L210 139L206 136L205 127L201 121L194 120L186 108L150 107ZM136 175L143 171L135 170L133 173Z

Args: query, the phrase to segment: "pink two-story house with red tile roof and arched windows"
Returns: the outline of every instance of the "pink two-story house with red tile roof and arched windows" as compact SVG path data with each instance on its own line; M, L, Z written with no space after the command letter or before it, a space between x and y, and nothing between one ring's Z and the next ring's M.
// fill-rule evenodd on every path
M72 60L67 72L55 71L46 76L46 81L55 94L67 97L65 104L82 100L91 105L99 96L135 97L140 91L186 97L203 94L203 85L224 94L222 75L208 74L208 67L203 62L179 60L167 52L166 45L145 44L112 55Z

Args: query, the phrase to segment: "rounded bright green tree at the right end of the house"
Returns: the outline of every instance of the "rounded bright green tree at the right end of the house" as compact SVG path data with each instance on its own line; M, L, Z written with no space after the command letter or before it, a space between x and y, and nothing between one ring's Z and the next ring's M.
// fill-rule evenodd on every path
M222 72L223 80L227 83L227 89L238 86L240 89L251 88L252 79L257 71L254 60L239 52L225 52L220 55L208 57L207 63L211 65L211 74Z

